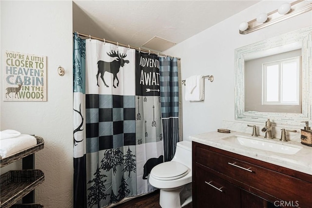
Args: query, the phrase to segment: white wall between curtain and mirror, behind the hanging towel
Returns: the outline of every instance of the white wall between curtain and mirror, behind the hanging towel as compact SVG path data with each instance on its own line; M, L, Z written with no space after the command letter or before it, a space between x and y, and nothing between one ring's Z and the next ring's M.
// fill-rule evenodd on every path
M215 131L222 127L223 120L235 121L234 49L312 25L312 12L308 12L247 35L239 34L238 25L242 21L251 21L262 12L272 12L281 3L261 1L164 52L181 58L182 79L196 74L215 77L213 83L205 81L204 102L183 100L183 139ZM184 90L182 87L183 96Z

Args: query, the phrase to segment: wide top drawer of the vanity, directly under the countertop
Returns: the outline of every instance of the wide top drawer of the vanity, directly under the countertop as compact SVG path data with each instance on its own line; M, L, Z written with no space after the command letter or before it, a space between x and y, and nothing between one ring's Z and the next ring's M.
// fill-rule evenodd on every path
M284 201L297 201L302 208L312 204L311 194L307 193L312 183L198 146L196 162L234 179L238 185L254 187Z

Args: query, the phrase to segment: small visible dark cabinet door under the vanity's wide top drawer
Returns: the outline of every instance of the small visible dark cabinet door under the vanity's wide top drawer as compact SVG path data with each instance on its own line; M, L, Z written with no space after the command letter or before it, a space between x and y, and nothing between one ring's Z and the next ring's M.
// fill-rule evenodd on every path
M241 208L280 208L244 189L241 189L241 205ZM276 205L278 205L278 203Z

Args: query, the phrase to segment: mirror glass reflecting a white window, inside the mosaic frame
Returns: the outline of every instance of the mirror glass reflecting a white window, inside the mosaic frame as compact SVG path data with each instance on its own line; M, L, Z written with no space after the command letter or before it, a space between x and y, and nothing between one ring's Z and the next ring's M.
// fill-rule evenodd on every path
M245 111L301 113L301 49L245 60Z

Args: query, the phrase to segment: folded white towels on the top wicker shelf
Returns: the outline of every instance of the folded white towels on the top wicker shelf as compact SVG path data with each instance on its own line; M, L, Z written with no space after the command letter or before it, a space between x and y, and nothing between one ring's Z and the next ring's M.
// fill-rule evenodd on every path
M6 158L24 149L37 145L37 139L28 134L0 140L0 156Z

